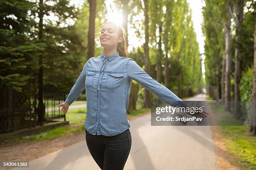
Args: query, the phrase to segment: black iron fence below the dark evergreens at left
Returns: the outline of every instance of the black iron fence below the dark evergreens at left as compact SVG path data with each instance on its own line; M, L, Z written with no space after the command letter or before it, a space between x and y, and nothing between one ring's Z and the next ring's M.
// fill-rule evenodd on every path
M8 87L0 89L0 133L10 133L40 125L37 89L36 83L33 82L24 86L21 92ZM64 100L65 94L47 94L45 90L44 123L66 121L61 107L57 107Z

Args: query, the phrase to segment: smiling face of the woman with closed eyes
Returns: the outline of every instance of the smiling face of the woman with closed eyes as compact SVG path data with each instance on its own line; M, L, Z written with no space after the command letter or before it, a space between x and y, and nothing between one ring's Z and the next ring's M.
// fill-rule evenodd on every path
M115 48L122 41L122 37L118 35L118 30L112 23L103 25L100 31L100 45L103 48Z

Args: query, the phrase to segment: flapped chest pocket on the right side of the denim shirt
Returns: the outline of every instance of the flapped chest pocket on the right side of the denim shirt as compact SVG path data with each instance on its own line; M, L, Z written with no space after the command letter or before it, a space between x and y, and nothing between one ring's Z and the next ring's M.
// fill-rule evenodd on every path
M115 89L121 85L123 79L123 73L108 73L105 86L110 89Z

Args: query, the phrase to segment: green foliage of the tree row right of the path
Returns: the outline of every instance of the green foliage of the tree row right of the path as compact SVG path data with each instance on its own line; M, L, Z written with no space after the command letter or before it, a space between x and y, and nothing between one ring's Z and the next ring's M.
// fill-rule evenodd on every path
M203 24L202 30L205 35L205 79L207 86L220 86L222 72L223 55L225 55L225 37L224 24L227 21L228 6L229 4L236 5L236 0L205 0L205 7L203 7ZM239 57L241 59L241 72L247 72L248 67L253 66L253 44L254 44L254 31L255 31L255 18L256 11L255 2L244 1L243 13L243 26L240 32L239 41L241 44L241 51ZM235 8L234 8L235 9ZM235 13L235 11L233 11ZM235 54L236 36L232 32L236 31L236 25L231 26L231 55ZM231 75L234 75L235 63L234 57L232 58ZM248 73L250 74L250 73ZM248 83L250 75L242 75L240 92L241 100L251 99L251 89ZM251 74L252 75L252 74ZM246 76L246 77L243 77ZM231 87L234 85L234 76L231 76ZM252 86L251 86L252 87ZM222 89L224 90L224 89ZM230 95L233 96L234 92L231 90ZM210 94L212 95L212 94Z

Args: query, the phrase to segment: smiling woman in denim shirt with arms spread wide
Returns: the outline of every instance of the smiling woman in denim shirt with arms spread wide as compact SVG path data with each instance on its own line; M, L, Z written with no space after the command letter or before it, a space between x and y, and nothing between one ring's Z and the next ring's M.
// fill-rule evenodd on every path
M86 89L87 115L84 122L87 147L102 170L123 170L131 150L132 138L127 108L132 80L170 105L185 106L172 91L148 75L127 55L125 30L107 22L102 26L103 51L84 65L67 100L61 103L64 114Z

